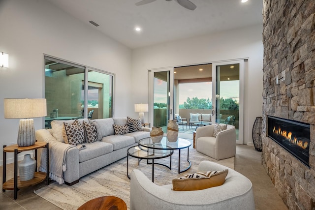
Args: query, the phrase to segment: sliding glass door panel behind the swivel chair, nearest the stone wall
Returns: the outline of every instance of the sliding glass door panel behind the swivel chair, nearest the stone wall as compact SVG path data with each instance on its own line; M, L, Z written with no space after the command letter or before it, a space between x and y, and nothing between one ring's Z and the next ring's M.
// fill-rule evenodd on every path
M212 123L234 125L236 143L243 144L244 60L212 63L212 78Z

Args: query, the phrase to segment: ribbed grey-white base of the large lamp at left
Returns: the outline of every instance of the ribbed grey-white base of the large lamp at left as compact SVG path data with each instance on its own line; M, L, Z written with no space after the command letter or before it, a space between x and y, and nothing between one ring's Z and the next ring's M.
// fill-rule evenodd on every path
M33 119L20 120L17 143L19 147L28 147L35 144L35 129Z

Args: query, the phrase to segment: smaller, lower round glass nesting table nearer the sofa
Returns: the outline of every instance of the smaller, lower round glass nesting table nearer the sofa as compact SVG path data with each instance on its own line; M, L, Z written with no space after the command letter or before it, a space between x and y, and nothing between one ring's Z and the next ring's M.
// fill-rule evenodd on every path
M173 154L173 150L155 150L150 148L145 148L141 146L133 146L127 150L127 177L130 179L130 176L128 174L128 159L129 156L138 158L138 165L140 165L140 160L146 159L147 164L152 164L152 182L154 182L154 164L163 165L169 169L171 169L171 161L170 160L170 166L161 164L161 163L155 163L155 159L161 159L165 157L171 157ZM152 160L152 163L149 163L149 160Z

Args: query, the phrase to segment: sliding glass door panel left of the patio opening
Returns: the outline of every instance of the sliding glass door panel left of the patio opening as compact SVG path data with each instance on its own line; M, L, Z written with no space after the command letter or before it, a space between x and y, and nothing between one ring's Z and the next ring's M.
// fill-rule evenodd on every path
M149 71L149 121L166 133L168 120L173 119L174 70L155 69Z

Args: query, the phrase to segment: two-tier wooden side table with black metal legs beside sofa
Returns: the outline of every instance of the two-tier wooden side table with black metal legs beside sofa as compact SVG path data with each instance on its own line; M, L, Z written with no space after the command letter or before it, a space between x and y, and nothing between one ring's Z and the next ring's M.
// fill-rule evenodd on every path
M49 157L48 143L35 142L34 145L29 147L19 147L18 145L3 146L3 178L2 178L2 191L14 190L14 199L18 197L18 189L23 187L38 184L46 179L46 184L49 184L49 158L46 159L47 173L37 172L37 149L46 148L47 157ZM22 151L35 150L36 168L34 178L32 180L20 181L18 176L18 153ZM6 152L14 152L14 178L6 181Z

